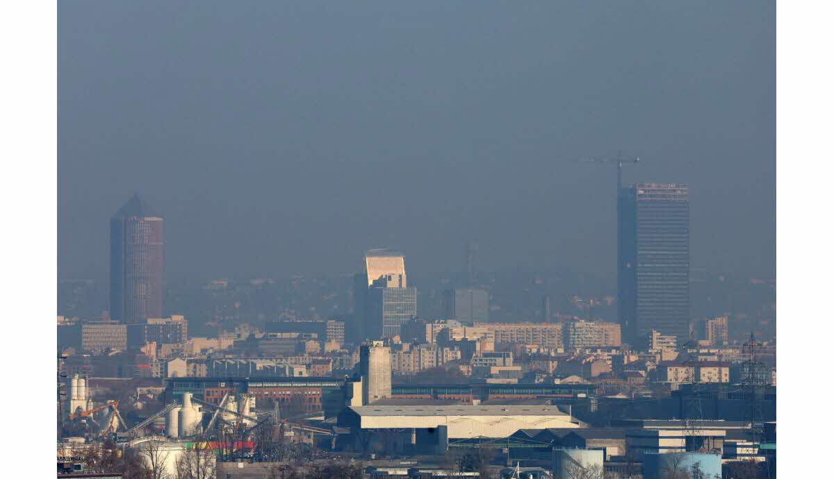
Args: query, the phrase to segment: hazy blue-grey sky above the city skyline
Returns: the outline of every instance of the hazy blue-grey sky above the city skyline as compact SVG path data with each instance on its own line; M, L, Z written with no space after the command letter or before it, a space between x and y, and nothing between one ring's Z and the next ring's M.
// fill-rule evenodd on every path
M614 276L615 168L691 185L694 267L776 262L775 2L58 2L58 274L133 192L169 275Z

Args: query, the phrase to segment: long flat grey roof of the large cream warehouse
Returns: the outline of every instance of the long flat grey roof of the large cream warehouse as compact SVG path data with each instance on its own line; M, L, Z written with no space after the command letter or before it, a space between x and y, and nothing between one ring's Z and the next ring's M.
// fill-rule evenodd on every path
M567 416L555 406L354 406L359 416Z

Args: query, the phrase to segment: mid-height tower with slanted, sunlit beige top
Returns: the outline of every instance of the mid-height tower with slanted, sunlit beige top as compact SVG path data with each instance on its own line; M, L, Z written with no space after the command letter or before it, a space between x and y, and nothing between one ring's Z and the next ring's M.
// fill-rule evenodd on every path
M417 314L417 290L408 286L402 253L365 253L363 272L354 276L353 339L399 336L399 327Z

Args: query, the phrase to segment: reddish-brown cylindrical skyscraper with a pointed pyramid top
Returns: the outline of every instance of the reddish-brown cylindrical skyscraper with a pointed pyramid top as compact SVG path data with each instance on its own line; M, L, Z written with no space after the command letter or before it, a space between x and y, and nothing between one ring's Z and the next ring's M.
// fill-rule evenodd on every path
M163 217L133 195L110 219L110 317L163 317Z

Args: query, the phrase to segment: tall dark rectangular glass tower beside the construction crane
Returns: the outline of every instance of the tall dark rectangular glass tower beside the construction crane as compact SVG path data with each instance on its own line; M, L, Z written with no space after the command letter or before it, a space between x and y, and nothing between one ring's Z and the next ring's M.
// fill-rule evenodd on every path
M617 302L622 332L689 338L689 187L639 183L617 197Z

